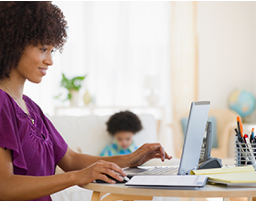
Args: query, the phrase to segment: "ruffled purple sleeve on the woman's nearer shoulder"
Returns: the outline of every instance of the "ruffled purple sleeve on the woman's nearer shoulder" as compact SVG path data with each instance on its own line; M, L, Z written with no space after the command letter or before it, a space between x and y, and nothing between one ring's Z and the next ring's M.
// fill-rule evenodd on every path
M0 147L11 150L13 165L20 168L21 174L26 174L14 102L3 91L0 97Z

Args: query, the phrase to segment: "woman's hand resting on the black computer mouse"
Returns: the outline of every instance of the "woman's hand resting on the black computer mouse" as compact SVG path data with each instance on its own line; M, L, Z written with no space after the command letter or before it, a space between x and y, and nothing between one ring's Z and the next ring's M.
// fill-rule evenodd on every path
M77 185L86 185L96 179L104 180L107 183L116 183L116 181L107 177L105 174L110 175L111 177L114 177L119 181L123 181L123 177L120 176L118 173L123 177L126 176L122 168L120 168L116 163L99 160L84 169L76 171L76 177L78 181Z

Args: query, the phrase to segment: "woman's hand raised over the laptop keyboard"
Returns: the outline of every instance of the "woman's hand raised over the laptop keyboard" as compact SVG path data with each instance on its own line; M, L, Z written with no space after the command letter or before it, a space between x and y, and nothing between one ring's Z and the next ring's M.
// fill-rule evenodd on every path
M170 160L172 158L172 156L169 156L168 153L166 153L160 143L143 144L140 148L129 155L130 159L128 166L130 167L142 165L154 158L162 159L163 162L165 159Z

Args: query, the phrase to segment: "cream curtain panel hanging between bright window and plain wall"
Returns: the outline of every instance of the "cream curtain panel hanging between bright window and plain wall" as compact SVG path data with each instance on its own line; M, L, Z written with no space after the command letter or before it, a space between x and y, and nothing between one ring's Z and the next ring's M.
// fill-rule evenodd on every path
M174 118L197 100L196 2L172 1L171 80Z

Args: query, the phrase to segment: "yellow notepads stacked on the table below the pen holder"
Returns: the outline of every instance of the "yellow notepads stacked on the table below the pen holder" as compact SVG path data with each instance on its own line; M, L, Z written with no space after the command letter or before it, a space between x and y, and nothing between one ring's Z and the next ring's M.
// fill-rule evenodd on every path
M197 169L192 175L207 175L209 183L226 184L227 186L256 187L256 172L253 165L241 167L223 167L211 169Z

